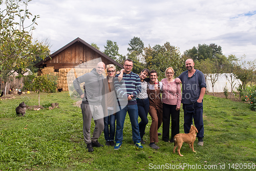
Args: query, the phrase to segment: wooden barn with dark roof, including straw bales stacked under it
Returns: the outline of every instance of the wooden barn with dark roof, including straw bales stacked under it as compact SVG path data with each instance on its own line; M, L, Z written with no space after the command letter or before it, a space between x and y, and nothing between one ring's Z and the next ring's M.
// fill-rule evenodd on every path
M73 90L73 80L91 72L99 61L104 62L105 65L114 64L123 68L120 63L78 37L46 59L36 63L35 67L39 68L38 75L50 73L57 75L57 89L69 91L69 89Z

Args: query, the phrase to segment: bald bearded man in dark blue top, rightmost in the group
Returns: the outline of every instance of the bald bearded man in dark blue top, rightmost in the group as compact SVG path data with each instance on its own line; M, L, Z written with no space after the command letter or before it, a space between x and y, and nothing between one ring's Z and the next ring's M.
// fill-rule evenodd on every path
M198 145L203 146L204 123L203 123L203 97L206 90L204 74L194 69L193 59L187 59L185 62L187 71L184 71L178 77L182 82L182 104L184 110L184 132L189 133L190 125L193 124L198 130ZM179 81L176 78L176 82Z

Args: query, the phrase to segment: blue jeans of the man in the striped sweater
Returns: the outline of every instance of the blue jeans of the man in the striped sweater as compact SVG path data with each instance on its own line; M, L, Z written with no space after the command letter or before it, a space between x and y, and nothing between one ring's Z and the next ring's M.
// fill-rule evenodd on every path
M121 106L119 112L116 113L116 137L115 141L122 142L123 141L123 124L125 120L126 113L128 112L130 116L130 121L132 124L132 134L133 134L133 141L137 142L140 141L140 132L139 132L139 124L138 124L138 106L137 104L134 105L126 105Z

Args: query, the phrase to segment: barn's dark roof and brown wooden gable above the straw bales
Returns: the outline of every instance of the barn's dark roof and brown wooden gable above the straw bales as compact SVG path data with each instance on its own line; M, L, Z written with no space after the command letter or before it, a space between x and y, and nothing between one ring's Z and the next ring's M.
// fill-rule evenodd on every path
M105 55L98 49L92 47L86 41L77 37L73 41L71 41L66 46L57 50L44 60L36 63L35 67L39 69L43 69L45 67L53 67L55 72L58 72L59 69L63 68L74 68L81 63L87 62L88 65L85 67L95 68L96 58L101 58L101 61L108 64L114 64L120 68L123 68L120 63L116 62L114 59Z

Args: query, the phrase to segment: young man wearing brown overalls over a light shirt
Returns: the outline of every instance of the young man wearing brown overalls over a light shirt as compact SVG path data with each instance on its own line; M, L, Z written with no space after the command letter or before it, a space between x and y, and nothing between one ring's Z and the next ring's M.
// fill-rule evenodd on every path
M157 81L158 78L157 72L155 70L151 70L150 72L150 82L148 82L147 86L147 95L148 99L150 99L150 116L152 118L152 123L150 126L150 147L154 149L159 149L160 147L156 145L158 142L158 129L163 121L163 113L162 113L162 101L161 95L163 88L163 83ZM155 84L158 84L158 90L155 91Z

